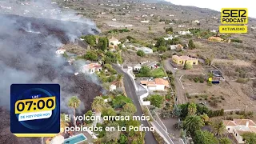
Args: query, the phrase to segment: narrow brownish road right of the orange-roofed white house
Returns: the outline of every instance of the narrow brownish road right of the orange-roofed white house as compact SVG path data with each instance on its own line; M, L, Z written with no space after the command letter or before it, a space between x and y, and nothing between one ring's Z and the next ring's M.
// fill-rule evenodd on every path
M185 90L182 88L181 82L179 82L182 74L177 74L177 70L174 70L174 67L170 64L170 59L166 59L163 63L165 70L171 71L174 74L174 85L178 104L186 103Z

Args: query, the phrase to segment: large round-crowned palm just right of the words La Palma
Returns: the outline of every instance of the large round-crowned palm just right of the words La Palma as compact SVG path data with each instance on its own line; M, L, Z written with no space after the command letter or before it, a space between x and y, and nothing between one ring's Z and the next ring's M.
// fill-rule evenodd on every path
M202 122L202 118L198 115L187 116L182 123L183 129L190 134L194 134L195 130L200 130L204 125L205 123Z

